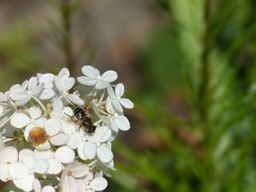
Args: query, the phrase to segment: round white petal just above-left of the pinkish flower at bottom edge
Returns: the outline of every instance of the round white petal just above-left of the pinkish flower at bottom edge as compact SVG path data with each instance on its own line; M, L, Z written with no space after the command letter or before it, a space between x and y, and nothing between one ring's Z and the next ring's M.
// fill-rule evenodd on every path
M56 150L54 157L62 163L69 163L75 159L75 153L69 147L63 146Z

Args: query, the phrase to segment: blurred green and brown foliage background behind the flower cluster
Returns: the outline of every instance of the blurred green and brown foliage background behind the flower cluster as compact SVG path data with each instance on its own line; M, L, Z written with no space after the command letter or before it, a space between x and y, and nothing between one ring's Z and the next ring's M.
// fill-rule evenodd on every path
M0 91L113 69L135 102L109 192L256 191L255 0L1 0Z

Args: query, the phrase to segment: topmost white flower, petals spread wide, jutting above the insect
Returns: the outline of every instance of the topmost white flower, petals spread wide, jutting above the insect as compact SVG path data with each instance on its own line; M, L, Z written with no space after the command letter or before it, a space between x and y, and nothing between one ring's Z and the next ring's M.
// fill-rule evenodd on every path
M100 76L99 71L90 65L84 66L82 73L85 76L78 77L78 82L85 86L95 86L96 90L107 88L111 82L117 79L115 71L109 70Z

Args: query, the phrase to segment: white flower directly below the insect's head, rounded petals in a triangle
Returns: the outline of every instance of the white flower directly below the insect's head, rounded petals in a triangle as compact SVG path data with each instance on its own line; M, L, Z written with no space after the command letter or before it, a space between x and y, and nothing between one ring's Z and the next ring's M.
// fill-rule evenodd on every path
M113 159L113 154L107 143L111 136L108 127L97 127L93 136L88 136L87 140L81 143L78 148L79 157L82 160L93 160L97 157L102 162L109 162Z

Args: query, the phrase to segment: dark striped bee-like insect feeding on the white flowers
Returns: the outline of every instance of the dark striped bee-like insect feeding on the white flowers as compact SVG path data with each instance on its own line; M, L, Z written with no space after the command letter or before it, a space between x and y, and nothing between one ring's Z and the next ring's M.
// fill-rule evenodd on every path
M88 108L81 108L77 106L73 109L74 117L76 121L80 124L80 127L85 127L88 133L94 133L96 131L96 126L93 119L90 117Z

